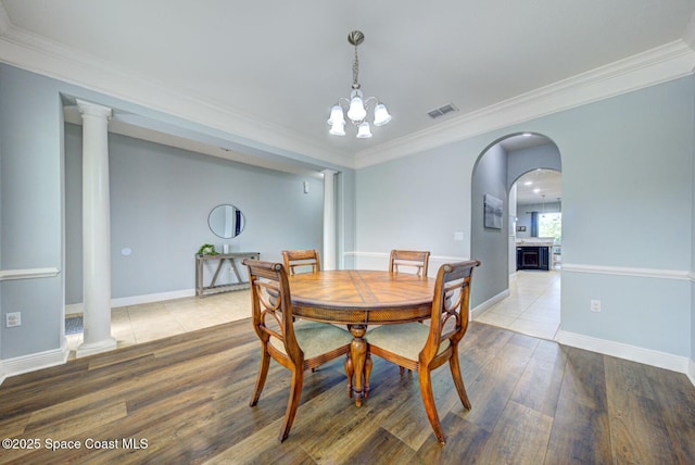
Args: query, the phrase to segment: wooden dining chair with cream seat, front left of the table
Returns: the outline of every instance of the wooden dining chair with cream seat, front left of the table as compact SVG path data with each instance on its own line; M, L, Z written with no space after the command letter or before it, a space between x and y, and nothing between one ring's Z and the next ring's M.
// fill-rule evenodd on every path
M292 372L290 398L278 439L285 441L302 395L304 372L350 353L352 335L326 323L292 317L292 300L287 272L280 263L245 259L249 271L253 328L261 339L261 368L249 405L255 406L268 375L270 359ZM352 376L345 360L345 373Z

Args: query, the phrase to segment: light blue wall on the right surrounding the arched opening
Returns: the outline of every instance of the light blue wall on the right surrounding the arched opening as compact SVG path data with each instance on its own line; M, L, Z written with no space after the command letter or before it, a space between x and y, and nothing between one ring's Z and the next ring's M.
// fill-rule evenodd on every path
M563 272L561 329L691 355L691 284L669 276L692 269L693 113L685 77L361 169L357 243L468 255L451 235L463 227L471 236L466 186L476 159L505 135L543 134L561 154L563 262L591 269ZM655 277L631 276L645 268ZM592 299L601 313L590 311Z

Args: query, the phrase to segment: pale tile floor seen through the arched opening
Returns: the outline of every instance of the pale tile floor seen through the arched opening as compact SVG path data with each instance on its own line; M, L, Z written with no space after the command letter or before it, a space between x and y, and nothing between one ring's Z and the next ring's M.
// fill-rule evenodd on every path
M509 297L476 315L475 321L543 339L560 325L560 272L519 271Z

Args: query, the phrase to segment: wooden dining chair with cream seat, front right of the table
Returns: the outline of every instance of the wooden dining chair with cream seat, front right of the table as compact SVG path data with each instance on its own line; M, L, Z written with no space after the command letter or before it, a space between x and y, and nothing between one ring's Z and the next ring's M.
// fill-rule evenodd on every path
M470 410L458 363L458 342L468 328L470 280L478 265L479 261L470 260L439 268L429 326L420 323L383 325L366 336L369 353L419 373L425 411L442 444L446 442L446 436L434 404L431 372L448 362L458 398L464 407Z

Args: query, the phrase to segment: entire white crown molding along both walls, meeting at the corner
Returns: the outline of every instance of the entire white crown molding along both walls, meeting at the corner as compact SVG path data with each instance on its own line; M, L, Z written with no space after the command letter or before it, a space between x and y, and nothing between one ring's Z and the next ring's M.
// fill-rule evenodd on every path
M0 1L0 61L181 120L217 129L235 142L288 159L363 168L693 74L695 15L684 38L359 151L354 156L304 135L242 115L118 68L14 26ZM263 141L263 142L261 142ZM316 163L319 164L319 163Z

